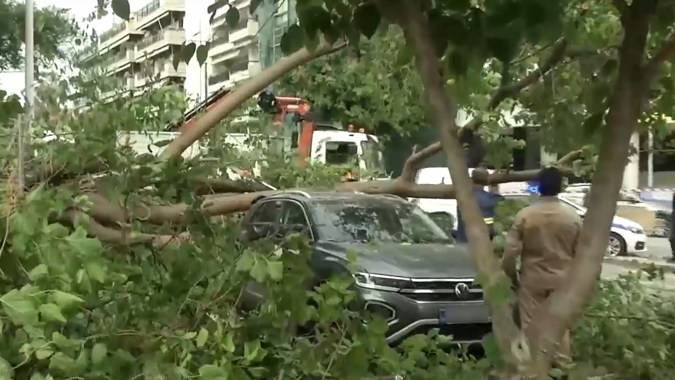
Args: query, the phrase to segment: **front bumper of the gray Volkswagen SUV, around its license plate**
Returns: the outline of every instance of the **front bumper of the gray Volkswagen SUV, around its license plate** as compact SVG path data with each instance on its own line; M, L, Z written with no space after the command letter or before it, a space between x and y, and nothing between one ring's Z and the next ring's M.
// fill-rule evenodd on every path
M421 301L383 290L358 288L365 302L387 305L395 311L389 321L387 343L398 344L409 336L427 334L438 328L439 333L452 336L456 343L475 344L492 331L487 305L483 300Z

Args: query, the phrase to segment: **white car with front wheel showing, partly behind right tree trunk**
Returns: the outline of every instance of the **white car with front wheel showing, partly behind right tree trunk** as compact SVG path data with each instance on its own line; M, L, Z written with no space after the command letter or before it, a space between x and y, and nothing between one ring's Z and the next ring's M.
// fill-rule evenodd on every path
M531 194L502 194L506 199L521 199L528 201L530 197L537 195ZM568 197L566 193L558 195L561 201L572 206L579 216L586 214L586 208L577 203L574 197ZM607 255L621 256L627 253L644 253L647 252L647 235L645 229L632 220L614 216L612 221L612 229L610 230L610 245L607 247Z

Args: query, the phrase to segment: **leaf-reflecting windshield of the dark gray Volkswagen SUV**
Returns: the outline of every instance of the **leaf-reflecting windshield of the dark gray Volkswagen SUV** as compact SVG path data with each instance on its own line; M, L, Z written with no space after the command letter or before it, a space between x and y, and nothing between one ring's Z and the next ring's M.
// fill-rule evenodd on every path
M312 208L319 239L394 243L452 243L452 239L412 203L394 199L317 201Z

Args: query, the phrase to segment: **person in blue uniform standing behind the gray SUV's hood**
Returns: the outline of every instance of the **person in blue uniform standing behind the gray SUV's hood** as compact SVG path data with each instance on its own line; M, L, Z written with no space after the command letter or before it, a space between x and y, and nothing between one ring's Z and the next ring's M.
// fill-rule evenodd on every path
M495 213L497 211L497 204L504 200L502 195L495 191L485 191L487 185L487 177L489 172L485 168L475 168L471 173L471 181L473 182L473 196L476 198L478 207L483 214L483 220L487 224L490 239L493 239L497 232L495 231ZM458 243L467 243L466 226L462 218L462 212L457 209L457 233L455 236Z

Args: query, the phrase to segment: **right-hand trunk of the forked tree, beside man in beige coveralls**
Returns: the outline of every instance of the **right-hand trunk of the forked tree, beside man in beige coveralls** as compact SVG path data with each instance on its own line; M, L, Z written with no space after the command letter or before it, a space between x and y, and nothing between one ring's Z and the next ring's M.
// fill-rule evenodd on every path
M537 341L530 342L533 360L528 375L531 378L548 379L553 348L564 331L570 329L583 313L602 267L624 168L628 163L630 136L637 127L649 90L644 57L651 17L644 3L636 4L631 5L627 13L622 13L625 22L619 70L588 197L589 212L576 245L569 278L551 294L547 309L537 317Z

